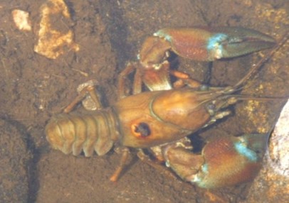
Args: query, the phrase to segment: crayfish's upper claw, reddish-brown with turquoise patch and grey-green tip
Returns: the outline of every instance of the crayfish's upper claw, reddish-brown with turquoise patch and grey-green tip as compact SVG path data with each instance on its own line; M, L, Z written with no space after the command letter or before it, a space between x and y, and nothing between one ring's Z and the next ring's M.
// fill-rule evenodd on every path
M275 45L275 40L266 34L236 27L164 28L154 36L167 42L162 43L168 46L167 50L200 61L246 55Z

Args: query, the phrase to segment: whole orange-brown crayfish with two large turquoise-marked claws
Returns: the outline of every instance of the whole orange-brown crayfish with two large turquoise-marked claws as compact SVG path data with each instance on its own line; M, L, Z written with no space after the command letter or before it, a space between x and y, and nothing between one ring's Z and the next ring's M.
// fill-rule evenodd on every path
M248 99L234 93L240 90L277 48L288 40L288 35L233 86L207 87L194 83L194 80L186 74L184 77L178 77L182 72L169 70L169 63L166 60L168 50L191 59L195 59L198 53L201 53L202 57L199 57L199 60L214 60L251 53L275 44L273 38L257 31L244 28L239 32L236 32L236 28L223 28L223 30L227 31L226 35L214 33L216 35L214 40L208 40L206 37L206 43L209 41L209 48L212 47L213 50L208 50L208 45L204 46L204 37L200 38L201 34L204 35L204 32L208 31L198 33L199 28L196 30L198 34L195 39L195 42L199 43L199 50L191 47L191 40L188 43L184 41L187 38L183 35L186 37L191 35L190 29L164 29L157 32L157 37L149 37L140 52L140 62L128 65L120 74L120 99L104 109L98 94L95 93L95 84L89 84L64 109L64 114L53 116L48 122L46 126L48 142L53 148L65 154L79 155L83 150L86 157L93 155L94 151L98 155L105 155L114 145L117 146L122 152L122 158L110 178L112 181L117 180L125 167L129 148L140 149L139 157L149 163L148 156L142 150L148 149L157 159L165 161L179 177L196 182L200 187L222 187L251 180L261 166L260 160L263 155L261 152L266 148L267 136L258 134L216 138L207 143L201 155L191 152L191 141L186 136L228 116L230 114L228 106L236 104L239 100ZM177 43L174 43L175 33L178 32L183 35L177 35L179 38L176 39ZM149 48L147 44L150 45ZM179 49L184 45L186 48ZM261 46L258 48L257 45ZM226 49L220 50L220 46ZM236 52L238 48L239 51ZM235 52L228 54L232 50ZM146 53L146 57L143 53ZM203 56L204 53L206 57ZM135 68L137 69L133 86L134 95L125 97L125 77ZM184 83L188 84L187 87L173 89L174 85L169 80L169 74L184 80ZM152 91L142 92L142 82ZM86 111L85 114L70 112L88 93L98 106L98 110Z

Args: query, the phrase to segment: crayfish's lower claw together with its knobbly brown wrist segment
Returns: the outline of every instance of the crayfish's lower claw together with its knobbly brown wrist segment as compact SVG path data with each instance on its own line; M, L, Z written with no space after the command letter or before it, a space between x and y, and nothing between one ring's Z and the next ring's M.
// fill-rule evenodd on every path
M178 146L167 146L167 165L183 180L199 187L216 188L253 180L261 168L266 134L214 138L201 154Z

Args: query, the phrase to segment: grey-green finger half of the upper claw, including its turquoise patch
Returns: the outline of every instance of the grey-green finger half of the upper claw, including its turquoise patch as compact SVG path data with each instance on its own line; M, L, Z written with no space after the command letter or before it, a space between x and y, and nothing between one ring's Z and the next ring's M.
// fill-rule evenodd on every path
M210 31L214 35L207 48L215 59L246 55L275 45L275 39L269 35L248 28L220 27Z

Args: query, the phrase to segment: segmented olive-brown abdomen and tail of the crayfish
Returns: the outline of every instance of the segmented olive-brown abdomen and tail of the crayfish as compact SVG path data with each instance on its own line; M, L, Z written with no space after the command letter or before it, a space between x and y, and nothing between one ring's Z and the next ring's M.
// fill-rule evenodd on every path
M87 111L86 114L59 114L46 126L46 138L51 146L65 154L86 157L104 155L113 146L117 126L112 111Z

